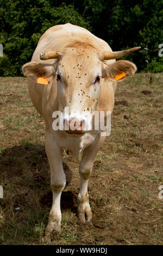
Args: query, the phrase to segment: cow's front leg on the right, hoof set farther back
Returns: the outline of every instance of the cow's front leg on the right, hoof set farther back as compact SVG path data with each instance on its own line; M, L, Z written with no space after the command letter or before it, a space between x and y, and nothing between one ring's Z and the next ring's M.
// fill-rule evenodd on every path
M96 153L104 142L104 139L105 137L101 137L100 134L97 135L95 142L93 142L93 144L84 150L82 160L80 162L79 174L81 178L81 184L78 194L78 217L79 220L83 223L90 222L92 218L92 212L89 204L89 194L87 193L87 185Z

